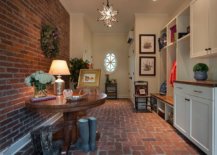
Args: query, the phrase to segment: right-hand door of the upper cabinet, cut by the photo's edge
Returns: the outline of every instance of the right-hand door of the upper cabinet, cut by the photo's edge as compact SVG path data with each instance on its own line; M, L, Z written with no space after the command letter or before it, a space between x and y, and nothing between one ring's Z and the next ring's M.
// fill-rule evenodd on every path
M217 1L209 0L209 36L211 54L217 53Z

